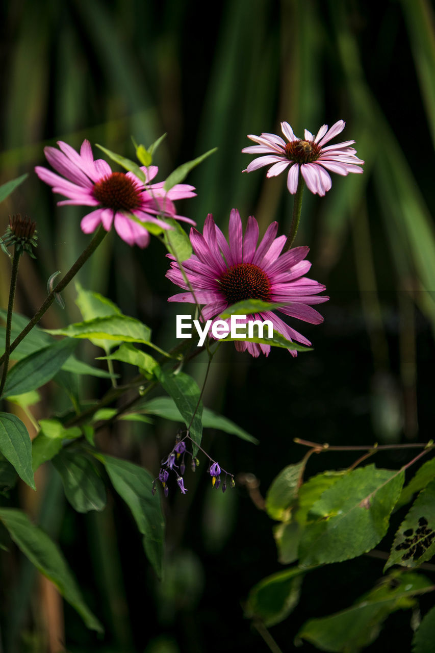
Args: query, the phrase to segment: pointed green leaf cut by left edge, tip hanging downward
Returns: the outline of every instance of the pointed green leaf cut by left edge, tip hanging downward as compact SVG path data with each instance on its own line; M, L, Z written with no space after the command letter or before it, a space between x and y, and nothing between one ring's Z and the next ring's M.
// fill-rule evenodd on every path
M0 413L0 453L14 466L24 483L36 490L30 436L23 422L12 413Z

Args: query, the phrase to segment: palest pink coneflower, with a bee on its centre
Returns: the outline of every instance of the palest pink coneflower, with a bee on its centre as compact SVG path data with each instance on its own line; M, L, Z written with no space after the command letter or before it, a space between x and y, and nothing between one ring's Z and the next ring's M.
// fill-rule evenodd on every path
M315 137L306 129L305 138L302 140L293 134L289 123L282 122L281 129L288 140L287 143L281 136L275 134L263 133L261 136L249 134L248 138L259 144L243 148L242 152L266 156L251 161L243 172L252 172L272 163L267 176L274 177L290 166L287 188L294 195L298 186L300 168L310 191L325 195L332 185L327 170L342 175L349 172L362 172L362 168L358 166L364 161L355 156L357 151L355 148L349 147L355 143L355 140L345 140L344 143L323 147L331 138L343 131L344 125L346 125L344 120L339 120L330 129L328 125L322 125Z

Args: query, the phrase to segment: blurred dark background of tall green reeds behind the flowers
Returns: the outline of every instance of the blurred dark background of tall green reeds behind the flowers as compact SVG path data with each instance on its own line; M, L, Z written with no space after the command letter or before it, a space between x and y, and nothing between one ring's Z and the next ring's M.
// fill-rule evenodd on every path
M30 173L2 205L1 220L5 229L8 214L27 214L39 232L37 261L27 259L21 268L16 310L33 314L46 279L65 272L89 240L79 226L84 208L58 208L33 174L44 164L46 144L61 139L78 148L89 138L96 157L100 143L133 158L131 135L148 146L167 132L155 159L158 180L218 146L187 179L198 197L178 202L179 213L201 227L212 212L226 232L236 207L244 221L255 215L261 232L276 219L283 233L293 197L283 175L266 180L265 168L241 174L252 159L240 151L250 144L246 135L279 133L283 120L297 135L304 128L315 133L344 119L338 140L356 140L364 174L332 176L325 198L306 191L295 243L310 245L310 276L325 283L330 296L321 307L323 325L295 323L315 350L296 360L281 350L253 360L231 345L221 347L204 404L260 444L206 431L204 446L235 475L260 479L264 496L278 471L305 453L295 437L331 444L432 437L435 40L429 1L16 0L0 12L0 183ZM180 308L167 304L176 290L164 276L164 254L157 240L142 251L110 234L79 279L149 324L155 342L167 347ZM8 265L2 257L2 306ZM63 294L65 311L52 308L43 326L78 319L74 288ZM82 355L101 352L89 346ZM188 371L201 383L205 359ZM89 397L102 390L91 383L82 389ZM37 419L65 407L54 389L43 399L33 409ZM140 428L123 422L102 434L100 445L157 475L175 431L163 420ZM404 460L391 454L376 463L394 467ZM308 473L351 462L345 454L312 456ZM59 638L71 652L267 650L243 618L243 602L255 582L280 569L272 523L240 477L223 496L212 492L205 468L203 460L195 475L186 472L187 495L171 487L164 502L163 584L153 578L118 498L109 496L103 513L77 515L54 471L41 471L36 496L19 487L14 500L59 540L106 634L97 639L86 631L12 550L1 554L5 652L63 650ZM361 558L307 578L297 609L273 629L283 650L307 618L347 607L381 569L381 560ZM394 642L395 650L409 650L403 646L410 639L406 619L393 615L370 650L393 650L387 646Z

